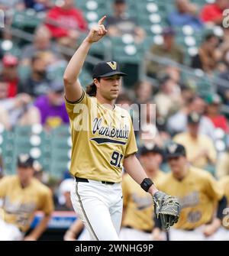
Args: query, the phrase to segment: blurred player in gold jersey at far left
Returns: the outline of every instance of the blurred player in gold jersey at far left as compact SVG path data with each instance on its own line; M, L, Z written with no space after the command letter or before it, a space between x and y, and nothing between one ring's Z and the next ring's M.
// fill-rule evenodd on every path
M0 240L34 241L47 227L53 212L53 198L50 189L40 183L34 175L34 160L28 154L18 157L18 175L2 178L0 181ZM44 212L44 218L26 235L34 218L34 213Z

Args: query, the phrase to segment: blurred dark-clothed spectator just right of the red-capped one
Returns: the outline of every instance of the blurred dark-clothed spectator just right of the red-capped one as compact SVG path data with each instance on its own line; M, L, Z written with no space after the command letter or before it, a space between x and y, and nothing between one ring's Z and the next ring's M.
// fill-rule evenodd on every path
M24 92L35 98L47 93L50 87L50 79L47 78L47 66L47 60L41 53L32 57L31 75L24 82Z

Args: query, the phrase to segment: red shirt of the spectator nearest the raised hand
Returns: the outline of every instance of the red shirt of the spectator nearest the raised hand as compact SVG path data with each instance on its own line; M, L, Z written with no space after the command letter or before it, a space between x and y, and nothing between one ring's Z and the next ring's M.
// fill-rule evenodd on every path
M49 24L49 20L56 22L56 25ZM48 11L46 25L53 37L67 37L69 31L85 31L87 28L82 12L70 3L66 4L66 2L62 7L56 6Z

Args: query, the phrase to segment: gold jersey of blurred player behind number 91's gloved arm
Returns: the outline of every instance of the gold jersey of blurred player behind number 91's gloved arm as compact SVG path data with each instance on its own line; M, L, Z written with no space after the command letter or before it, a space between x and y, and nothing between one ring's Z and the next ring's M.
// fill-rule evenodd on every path
M166 176L161 170L156 177L151 177L158 186ZM123 202L125 208L122 225L151 232L153 223L153 199L127 173L122 180Z

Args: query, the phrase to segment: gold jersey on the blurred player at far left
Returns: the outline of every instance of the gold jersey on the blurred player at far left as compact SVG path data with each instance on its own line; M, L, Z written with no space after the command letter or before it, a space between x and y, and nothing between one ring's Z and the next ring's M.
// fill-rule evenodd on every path
M0 180L0 199L3 199L0 218L5 222L17 225L22 232L27 232L37 210L49 215L53 212L51 190L32 179L31 183L22 188L18 176L4 177Z

